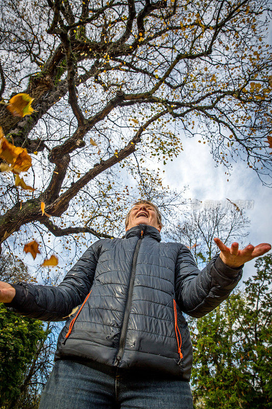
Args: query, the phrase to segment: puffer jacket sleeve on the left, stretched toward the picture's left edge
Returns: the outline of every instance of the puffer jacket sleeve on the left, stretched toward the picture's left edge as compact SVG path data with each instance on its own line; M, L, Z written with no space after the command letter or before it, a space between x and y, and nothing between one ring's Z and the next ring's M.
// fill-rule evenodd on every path
M11 284L16 290L15 297L4 305L13 312L41 321L66 321L64 317L82 304L90 291L101 248L98 241L86 250L58 286L22 281Z

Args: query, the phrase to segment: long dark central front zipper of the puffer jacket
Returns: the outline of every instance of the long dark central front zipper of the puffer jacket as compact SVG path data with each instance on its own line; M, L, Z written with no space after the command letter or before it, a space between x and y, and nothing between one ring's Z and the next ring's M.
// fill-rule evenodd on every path
M130 308L131 308L131 298L132 298L132 291L133 291L133 286L134 286L134 280L135 280L135 271L136 271L136 263L137 263L137 257L139 253L139 248L140 244L143 238L143 230L141 230L141 236L139 240L137 241L134 256L133 256L133 263L132 263L132 269L131 269L131 277L130 277L130 285L129 285L129 291L128 291L128 298L127 298L127 304L125 307L125 314L123 318L123 325L121 328L121 335L120 335L120 341L119 341L119 349L114 361L114 366L118 365L118 362L122 359L123 356L123 350L125 347L125 340L127 337L127 329L128 329L128 323L129 323L129 314L130 314Z

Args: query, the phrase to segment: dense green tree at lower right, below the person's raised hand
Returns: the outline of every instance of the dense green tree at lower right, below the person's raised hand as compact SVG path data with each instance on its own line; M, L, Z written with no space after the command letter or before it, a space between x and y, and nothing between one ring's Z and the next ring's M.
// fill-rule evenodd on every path
M272 254L255 267L243 289L191 320L195 408L271 408Z

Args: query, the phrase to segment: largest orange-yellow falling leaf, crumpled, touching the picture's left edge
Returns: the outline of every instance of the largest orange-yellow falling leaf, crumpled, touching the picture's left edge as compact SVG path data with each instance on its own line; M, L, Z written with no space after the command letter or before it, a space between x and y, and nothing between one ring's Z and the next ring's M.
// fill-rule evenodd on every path
M11 165L10 170L14 173L26 172L31 167L31 157L26 148L14 146L4 137L0 127L0 157Z

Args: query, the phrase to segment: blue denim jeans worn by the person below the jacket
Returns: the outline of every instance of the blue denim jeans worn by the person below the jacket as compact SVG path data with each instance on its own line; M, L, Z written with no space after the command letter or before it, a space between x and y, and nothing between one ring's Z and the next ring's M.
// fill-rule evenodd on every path
M192 409L189 382L57 360L39 409ZM106 368L106 369L104 369Z

